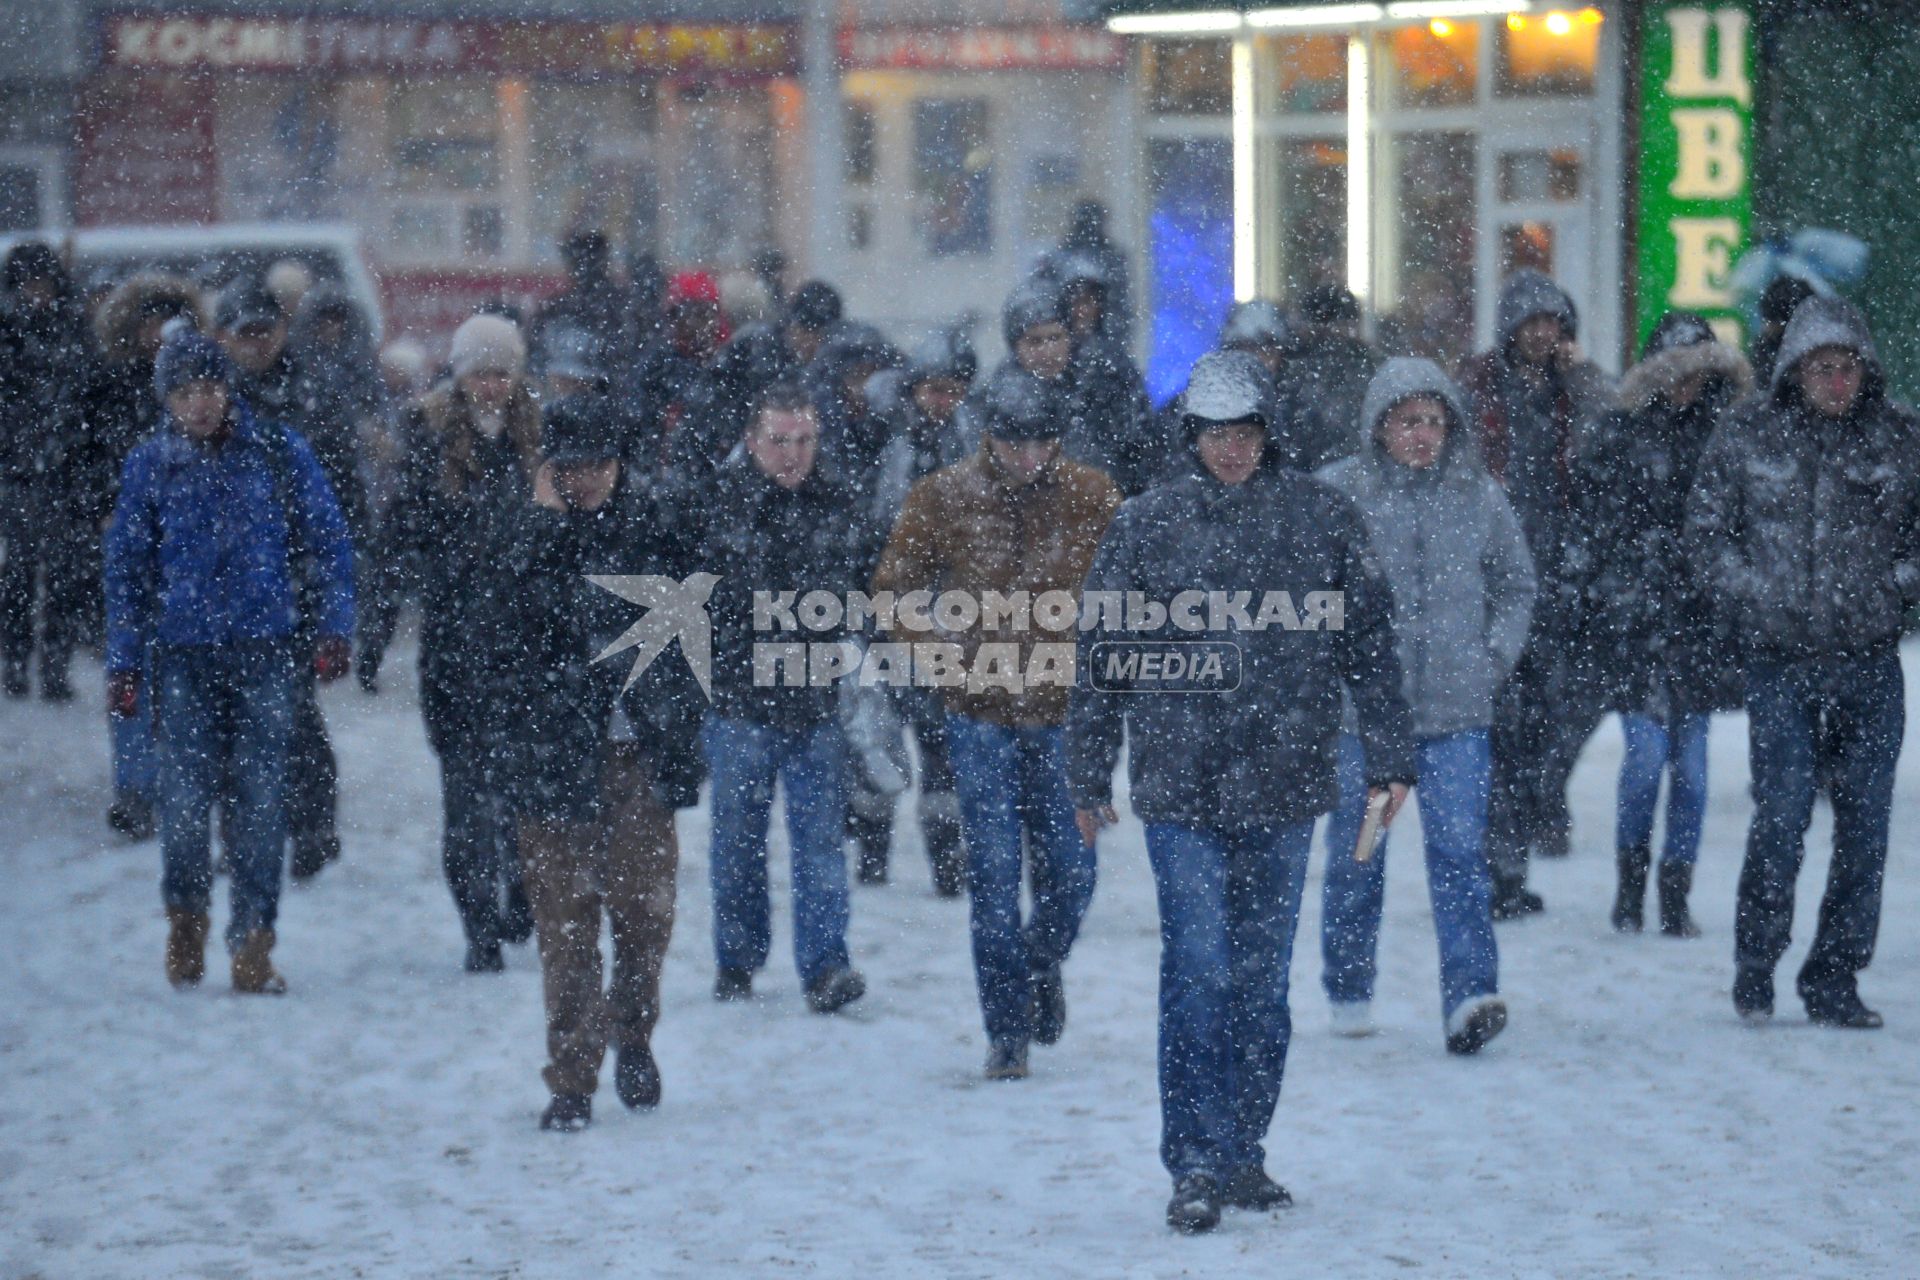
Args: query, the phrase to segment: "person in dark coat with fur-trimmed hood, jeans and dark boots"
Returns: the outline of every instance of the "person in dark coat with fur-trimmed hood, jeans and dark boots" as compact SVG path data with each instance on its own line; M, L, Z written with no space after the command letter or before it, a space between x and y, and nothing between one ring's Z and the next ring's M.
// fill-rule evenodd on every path
M1569 580L1580 599L1580 651L1626 731L1613 904L1613 927L1624 933L1644 925L1663 775L1661 931L1699 933L1688 892L1707 816L1707 720L1738 708L1741 695L1738 637L1686 555L1686 499L1707 439L1751 390L1747 361L1705 319L1672 311L1574 459Z

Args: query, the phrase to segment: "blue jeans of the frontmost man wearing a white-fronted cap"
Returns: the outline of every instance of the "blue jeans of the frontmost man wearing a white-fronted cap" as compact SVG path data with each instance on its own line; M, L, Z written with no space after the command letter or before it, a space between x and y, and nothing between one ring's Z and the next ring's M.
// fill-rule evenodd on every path
M1146 827L1160 892L1160 1161L1175 1180L1265 1163L1311 850L1311 821Z

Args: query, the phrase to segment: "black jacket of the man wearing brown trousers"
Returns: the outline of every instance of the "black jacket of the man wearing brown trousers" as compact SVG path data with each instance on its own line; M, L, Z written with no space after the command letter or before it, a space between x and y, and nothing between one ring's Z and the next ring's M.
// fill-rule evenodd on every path
M582 821L599 804L607 745L630 741L653 760L660 804L699 800L699 725L707 699L678 645L622 691L634 652L595 662L641 618L588 574L689 572L682 532L647 476L628 468L599 510L528 503L511 520L499 574L499 624L490 664L501 679L507 733L499 762L516 814Z

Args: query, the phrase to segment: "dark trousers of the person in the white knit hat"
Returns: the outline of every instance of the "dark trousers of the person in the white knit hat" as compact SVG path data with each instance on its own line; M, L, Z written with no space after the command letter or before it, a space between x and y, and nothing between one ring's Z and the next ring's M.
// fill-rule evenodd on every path
M497 942L501 896L520 885L515 821L493 752L449 737L440 752L440 867L468 942Z

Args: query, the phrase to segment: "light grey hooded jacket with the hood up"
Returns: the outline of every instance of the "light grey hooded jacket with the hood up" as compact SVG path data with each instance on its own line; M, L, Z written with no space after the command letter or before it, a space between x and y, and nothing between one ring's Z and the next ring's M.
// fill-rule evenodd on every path
M1453 426L1446 451L1415 470L1386 457L1380 420L1430 395ZM1354 499L1394 593L1402 691L1417 739L1494 722L1494 697L1521 660L1534 610L1534 566L1500 486L1480 464L1459 388L1438 365L1380 367L1361 407L1359 453L1319 472Z

